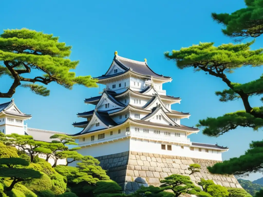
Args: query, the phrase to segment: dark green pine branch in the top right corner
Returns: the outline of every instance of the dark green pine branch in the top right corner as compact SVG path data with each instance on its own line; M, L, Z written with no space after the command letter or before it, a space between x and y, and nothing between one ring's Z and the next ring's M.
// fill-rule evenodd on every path
M212 13L212 18L225 25L222 32L230 37L258 37L263 33L262 0L245 0L246 8L231 14Z

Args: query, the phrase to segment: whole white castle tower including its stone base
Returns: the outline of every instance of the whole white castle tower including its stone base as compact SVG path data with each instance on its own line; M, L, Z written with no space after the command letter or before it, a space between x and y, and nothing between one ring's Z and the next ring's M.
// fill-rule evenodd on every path
M158 185L159 178L172 173L190 174L187 165L191 163L199 163L204 168L202 172L209 174L205 166L222 161L221 154L228 151L217 144L190 141L188 136L199 129L180 124L190 114L171 109L172 104L181 101L163 90L171 77L156 74L146 59L130 60L115 51L108 71L94 78L106 88L101 96L85 99L95 109L77 114L86 121L73 123L83 130L72 136L82 147L78 152L98 158L124 190L136 190L138 177L140 182L145 180L138 184ZM190 176L194 181L200 180L199 176ZM216 180L221 185L225 181L225 185L237 187L235 178L228 179L222 178L222 183L221 178Z

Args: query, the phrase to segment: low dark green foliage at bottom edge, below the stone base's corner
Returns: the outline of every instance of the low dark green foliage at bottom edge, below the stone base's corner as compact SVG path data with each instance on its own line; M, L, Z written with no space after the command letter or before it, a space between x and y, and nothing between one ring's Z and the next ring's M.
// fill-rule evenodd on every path
M150 185L149 187L141 186L140 189L134 192L132 197L174 197L175 194L171 192L165 191L166 187L160 188L160 187L154 187Z

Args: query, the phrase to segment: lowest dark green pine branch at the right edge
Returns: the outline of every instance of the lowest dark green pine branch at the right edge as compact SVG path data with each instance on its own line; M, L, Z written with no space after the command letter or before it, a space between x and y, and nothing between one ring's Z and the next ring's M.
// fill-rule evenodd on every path
M252 141L244 155L216 163L208 167L209 172L217 174L248 174L262 172L263 141ZM247 162L249 161L249 162Z

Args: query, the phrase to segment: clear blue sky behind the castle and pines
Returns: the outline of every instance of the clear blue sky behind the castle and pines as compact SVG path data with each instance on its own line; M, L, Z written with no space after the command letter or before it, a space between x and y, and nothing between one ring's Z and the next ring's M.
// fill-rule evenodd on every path
M211 12L231 13L245 6L242 0L184 0L184 1L3 1L0 29L28 28L59 36L60 42L72 45L70 59L80 60L77 75L105 74L114 57L120 56L144 61L158 74L173 77L164 84L168 95L180 96L181 104L172 109L190 112L190 119L182 123L194 126L199 119L216 117L227 112L243 110L241 101L219 102L215 91L226 87L220 79L194 73L192 69L178 70L172 61L164 59L163 53L199 42L215 42L215 45L233 42L221 33L221 25L215 23ZM246 39L248 42L251 39ZM263 36L256 39L252 49L262 47ZM262 68L241 68L229 75L233 82L244 83L257 79ZM2 78L1 92L11 86L12 81ZM24 113L32 114L28 127L48 129L66 133L77 133L72 123L84 121L78 112L89 111L92 105L85 105L84 99L98 96L99 88L74 86L67 90L53 83L48 85L50 96L42 97L22 87L13 96L15 103ZM102 90L103 87L101 86ZM10 101L0 98L1 102ZM252 106L262 103L258 97L250 98ZM218 138L207 137L200 131L190 136L191 141L216 142L230 149L223 159L244 154L252 140L262 140L262 130L238 128ZM250 180L261 178L262 174L251 175Z

